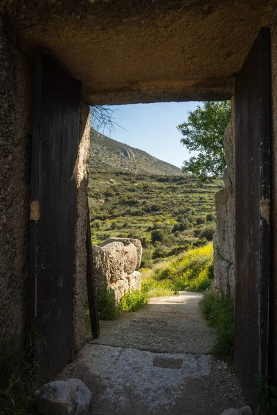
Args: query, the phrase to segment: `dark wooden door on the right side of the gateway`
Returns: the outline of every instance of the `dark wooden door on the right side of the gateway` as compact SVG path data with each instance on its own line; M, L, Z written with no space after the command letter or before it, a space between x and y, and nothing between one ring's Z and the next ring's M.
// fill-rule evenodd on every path
M270 46L262 28L235 79L235 369L251 403L267 375Z

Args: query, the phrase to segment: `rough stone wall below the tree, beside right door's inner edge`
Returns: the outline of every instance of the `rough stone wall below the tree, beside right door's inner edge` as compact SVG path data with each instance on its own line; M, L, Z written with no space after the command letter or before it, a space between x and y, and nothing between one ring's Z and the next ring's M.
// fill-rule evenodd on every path
M215 194L216 230L213 236L214 279L216 295L235 297L235 132L231 122L224 132L226 169L224 189Z

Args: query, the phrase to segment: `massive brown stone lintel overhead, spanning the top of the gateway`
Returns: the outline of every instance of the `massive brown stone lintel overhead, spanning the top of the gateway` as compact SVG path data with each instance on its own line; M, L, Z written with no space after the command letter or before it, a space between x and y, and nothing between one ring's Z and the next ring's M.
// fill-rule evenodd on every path
M229 99L233 74L260 27L270 26L276 1L239 5L44 0L34 7L32 1L1 0L0 14L29 54L37 44L53 51L82 81L86 102L131 104Z

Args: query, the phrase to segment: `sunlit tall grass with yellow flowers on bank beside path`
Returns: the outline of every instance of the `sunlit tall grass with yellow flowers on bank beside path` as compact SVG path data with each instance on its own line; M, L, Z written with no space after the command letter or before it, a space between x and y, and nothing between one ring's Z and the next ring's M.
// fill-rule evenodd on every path
M177 291L205 291L213 277L213 245L209 243L163 261L143 273L143 292L148 297L172 295Z

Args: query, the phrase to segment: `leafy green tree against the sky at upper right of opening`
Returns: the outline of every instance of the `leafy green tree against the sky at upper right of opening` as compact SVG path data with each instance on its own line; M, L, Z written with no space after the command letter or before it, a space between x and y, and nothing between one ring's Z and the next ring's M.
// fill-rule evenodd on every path
M224 129L231 122L230 101L204 101L195 111L188 111L188 122L179 124L177 129L184 136L181 142L189 151L199 151L197 156L184 161L186 173L193 173L199 181L223 174L226 166L223 136Z

